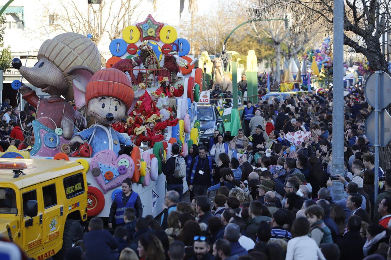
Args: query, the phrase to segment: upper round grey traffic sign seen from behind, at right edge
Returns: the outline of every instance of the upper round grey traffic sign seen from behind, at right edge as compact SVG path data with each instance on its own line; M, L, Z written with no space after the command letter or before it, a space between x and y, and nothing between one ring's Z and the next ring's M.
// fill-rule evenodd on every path
M375 108L376 74L369 75L364 86L365 99ZM382 72L379 74L379 109L385 108L391 102L391 77Z

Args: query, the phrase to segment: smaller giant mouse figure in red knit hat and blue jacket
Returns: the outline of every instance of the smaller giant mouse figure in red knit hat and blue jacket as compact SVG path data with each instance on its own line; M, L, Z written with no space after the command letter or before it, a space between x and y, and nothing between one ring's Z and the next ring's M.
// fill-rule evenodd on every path
M91 127L75 133L70 145L75 142L91 145L92 154L110 149L118 153L120 145L133 145L129 136L118 133L109 126L124 119L132 105L135 93L129 78L115 68L99 70L94 75L83 68L75 73L74 91L77 107L87 106L88 116L97 120Z

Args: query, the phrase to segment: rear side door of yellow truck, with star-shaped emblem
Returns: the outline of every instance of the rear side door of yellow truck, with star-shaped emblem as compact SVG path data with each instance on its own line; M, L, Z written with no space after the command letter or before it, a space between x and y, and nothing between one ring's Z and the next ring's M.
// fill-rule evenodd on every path
M43 195L43 247L51 246L62 238L60 227L64 225L62 215L64 205L57 203L56 180L42 184Z

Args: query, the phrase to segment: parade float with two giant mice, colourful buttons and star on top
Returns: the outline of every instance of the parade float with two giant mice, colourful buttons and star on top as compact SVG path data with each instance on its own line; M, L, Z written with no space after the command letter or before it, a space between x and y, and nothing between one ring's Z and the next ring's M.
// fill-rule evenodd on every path
M39 99L23 82L13 83L37 109L33 146L30 154L10 148L0 158L81 163L88 217L108 217L122 181L131 178L143 215L156 217L166 193L161 157L171 156L173 143L185 156L199 140L195 122L205 75L194 68L190 43L178 35L149 14L111 41L113 57L104 68L95 44L70 32L46 40L34 67L14 60L14 68L50 98ZM186 192L185 178L183 185Z

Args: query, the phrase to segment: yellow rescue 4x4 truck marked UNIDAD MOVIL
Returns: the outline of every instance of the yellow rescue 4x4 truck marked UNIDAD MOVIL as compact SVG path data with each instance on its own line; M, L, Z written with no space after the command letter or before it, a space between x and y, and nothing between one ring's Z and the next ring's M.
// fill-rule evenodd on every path
M36 260L64 259L87 220L84 167L74 161L0 159L0 235Z

